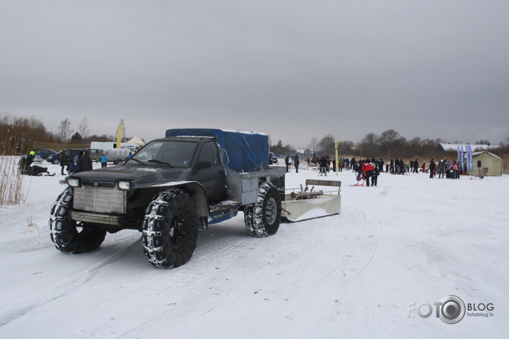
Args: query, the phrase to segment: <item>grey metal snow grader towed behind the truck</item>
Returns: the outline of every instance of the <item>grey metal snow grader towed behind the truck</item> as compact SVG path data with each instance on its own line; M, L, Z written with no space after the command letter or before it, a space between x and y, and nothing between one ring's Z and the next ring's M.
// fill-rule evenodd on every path
M289 189L291 192L285 194L285 200L281 202L282 217L295 222L341 212L341 181L306 179L305 185L304 189L300 185L300 190ZM332 186L337 190L315 190L315 186Z

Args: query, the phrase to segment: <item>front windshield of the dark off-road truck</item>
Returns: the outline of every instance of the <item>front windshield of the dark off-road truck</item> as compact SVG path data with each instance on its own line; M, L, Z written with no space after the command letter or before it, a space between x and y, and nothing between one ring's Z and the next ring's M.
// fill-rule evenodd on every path
M147 166L189 167L196 146L192 141L152 141L132 156L132 160Z

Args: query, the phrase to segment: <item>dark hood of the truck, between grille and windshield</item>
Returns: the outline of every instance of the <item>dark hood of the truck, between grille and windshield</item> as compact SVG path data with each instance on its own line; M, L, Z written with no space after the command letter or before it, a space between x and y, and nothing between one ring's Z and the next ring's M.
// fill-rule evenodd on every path
M190 171L190 168L159 168L121 165L75 173L71 177L80 178L83 183L115 183L115 181L131 181L132 188L140 188L157 183L182 181L182 178L189 176L188 173Z

